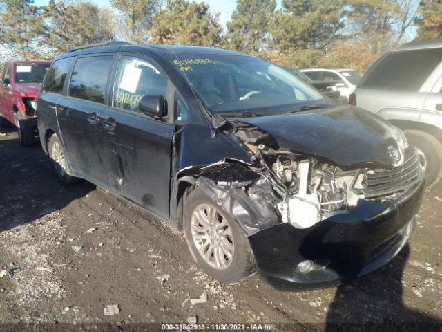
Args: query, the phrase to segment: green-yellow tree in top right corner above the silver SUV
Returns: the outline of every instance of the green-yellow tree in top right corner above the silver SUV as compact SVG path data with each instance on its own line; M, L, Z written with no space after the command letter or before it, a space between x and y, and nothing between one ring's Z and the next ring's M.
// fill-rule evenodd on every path
M442 37L442 0L421 1L416 24L419 38Z

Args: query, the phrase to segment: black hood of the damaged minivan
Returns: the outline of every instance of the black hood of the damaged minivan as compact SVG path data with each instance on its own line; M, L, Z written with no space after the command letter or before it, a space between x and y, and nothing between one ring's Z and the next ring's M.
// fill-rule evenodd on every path
M369 111L341 105L313 111L253 118L230 118L269 133L281 148L319 156L342 167L393 165L388 147L397 129Z

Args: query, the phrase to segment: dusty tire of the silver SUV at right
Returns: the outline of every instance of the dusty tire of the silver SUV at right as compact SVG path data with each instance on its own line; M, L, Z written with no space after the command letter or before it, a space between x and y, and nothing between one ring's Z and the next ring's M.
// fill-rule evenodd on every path
M410 145L420 150L425 166L425 185L431 187L442 178L442 144L434 136L418 130L405 130Z

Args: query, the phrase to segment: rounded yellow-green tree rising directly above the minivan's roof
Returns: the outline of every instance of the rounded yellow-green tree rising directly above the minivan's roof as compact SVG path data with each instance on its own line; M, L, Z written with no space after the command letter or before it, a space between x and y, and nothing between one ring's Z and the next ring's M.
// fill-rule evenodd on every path
M151 37L155 44L218 46L222 26L206 3L171 0L153 16Z

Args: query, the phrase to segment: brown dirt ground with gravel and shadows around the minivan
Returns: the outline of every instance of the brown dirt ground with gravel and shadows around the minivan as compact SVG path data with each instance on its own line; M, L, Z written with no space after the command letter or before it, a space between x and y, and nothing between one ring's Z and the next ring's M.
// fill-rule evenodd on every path
M425 193L410 244L366 277L314 291L275 291L258 275L226 286L195 265L180 232L90 183L59 185L41 147L1 132L0 270L13 274L0 278L0 331L106 322L124 330L193 316L287 331L442 324L442 182ZM186 301L204 293L205 303ZM119 313L104 315L110 304Z

